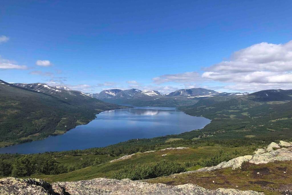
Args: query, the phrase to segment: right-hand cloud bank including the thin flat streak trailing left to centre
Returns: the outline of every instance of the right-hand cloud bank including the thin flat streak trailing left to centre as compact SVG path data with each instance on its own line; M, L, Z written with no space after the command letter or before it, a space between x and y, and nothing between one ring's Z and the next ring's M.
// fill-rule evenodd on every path
M285 44L254 44L235 51L229 61L222 61L198 72L161 75L157 84L166 82L214 81L226 83L224 89L259 91L292 88L292 41Z

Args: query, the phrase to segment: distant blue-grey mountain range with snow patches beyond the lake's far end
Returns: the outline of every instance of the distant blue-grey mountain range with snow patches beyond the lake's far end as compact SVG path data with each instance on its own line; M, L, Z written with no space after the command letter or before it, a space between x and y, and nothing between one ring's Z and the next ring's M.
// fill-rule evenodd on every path
M107 89L99 94L88 94L96 99L116 104L133 106L168 106L177 107L192 105L199 99L212 96L238 96L248 93L222 93L210 89L192 88L179 89L169 94L163 94L155 90L140 89Z

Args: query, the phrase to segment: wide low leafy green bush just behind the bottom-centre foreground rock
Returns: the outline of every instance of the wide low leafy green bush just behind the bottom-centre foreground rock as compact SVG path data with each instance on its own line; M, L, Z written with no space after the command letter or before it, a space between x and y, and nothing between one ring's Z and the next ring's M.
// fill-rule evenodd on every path
M185 166L170 161L128 166L113 175L114 179L144 180L186 171Z

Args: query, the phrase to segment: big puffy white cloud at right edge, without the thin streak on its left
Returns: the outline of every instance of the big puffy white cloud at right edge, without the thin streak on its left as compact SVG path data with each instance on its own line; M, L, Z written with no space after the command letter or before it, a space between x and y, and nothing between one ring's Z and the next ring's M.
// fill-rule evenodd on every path
M290 83L292 41L255 44L234 52L230 61L206 68L205 79L240 83Z

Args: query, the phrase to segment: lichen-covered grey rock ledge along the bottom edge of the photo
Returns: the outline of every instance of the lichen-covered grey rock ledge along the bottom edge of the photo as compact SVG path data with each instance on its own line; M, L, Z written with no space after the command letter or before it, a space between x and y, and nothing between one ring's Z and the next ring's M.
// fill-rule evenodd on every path
M126 194L166 194L166 195L260 195L256 191L240 191L237 189L208 190L195 184L166 185L131 181L129 179L114 180L96 178L77 182L56 182L52 185L39 179L18 179L13 177L0 180L1 194L34 194L34 195L126 195Z

